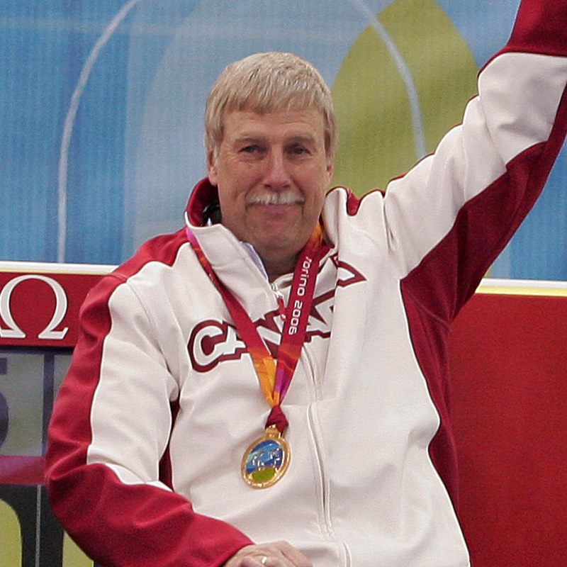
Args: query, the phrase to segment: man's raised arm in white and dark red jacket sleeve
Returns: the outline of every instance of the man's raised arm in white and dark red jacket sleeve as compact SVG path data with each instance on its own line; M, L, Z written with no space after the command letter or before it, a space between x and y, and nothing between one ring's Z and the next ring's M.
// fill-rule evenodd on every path
M417 301L439 318L454 318L539 196L565 136L566 82L567 2L522 1L463 123L388 185L388 247Z

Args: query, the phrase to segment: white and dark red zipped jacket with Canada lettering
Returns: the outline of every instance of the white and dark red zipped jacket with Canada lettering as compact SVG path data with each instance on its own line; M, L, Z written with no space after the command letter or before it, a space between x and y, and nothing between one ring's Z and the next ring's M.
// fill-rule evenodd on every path
M434 155L385 194L327 195L333 247L283 403L291 465L271 488L242 481L269 408L184 230L89 294L47 464L57 516L96 561L213 567L287 539L315 567L468 565L447 337L561 147L566 21L565 0L524 1ZM191 229L276 354L291 276L270 284L223 225L201 226L213 193L206 181L193 192Z

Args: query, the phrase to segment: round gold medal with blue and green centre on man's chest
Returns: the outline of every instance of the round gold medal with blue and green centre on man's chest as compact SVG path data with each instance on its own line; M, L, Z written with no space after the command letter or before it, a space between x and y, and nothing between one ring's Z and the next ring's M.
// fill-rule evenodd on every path
M268 488L286 473L291 453L275 425L252 442L242 457L242 478L253 488Z

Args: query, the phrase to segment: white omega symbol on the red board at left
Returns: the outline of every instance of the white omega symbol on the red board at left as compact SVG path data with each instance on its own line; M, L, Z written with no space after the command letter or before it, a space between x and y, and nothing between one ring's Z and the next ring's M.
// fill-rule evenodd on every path
M55 328L63 320L65 313L67 313L67 294L58 281L40 274L26 274L24 276L18 276L6 283L4 288L2 288L2 291L0 291L0 317L8 326L7 329L3 329L0 326L0 337L4 339L26 338L26 333L23 332L18 325L16 325L16 321L13 319L10 299L16 286L18 286L22 281L29 279L45 281L55 294L55 311L50 322L47 323L47 327L38 334L38 339L61 340L65 335L67 335L69 327L64 327L62 330L58 331L55 330Z

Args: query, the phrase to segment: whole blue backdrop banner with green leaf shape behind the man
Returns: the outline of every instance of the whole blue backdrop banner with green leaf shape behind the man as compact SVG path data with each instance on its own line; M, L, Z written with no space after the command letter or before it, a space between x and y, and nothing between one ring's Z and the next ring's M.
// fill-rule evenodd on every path
M519 0L3 0L0 258L117 264L179 228L206 94L251 52L332 87L335 184L383 187L459 123ZM490 275L567 279L567 157Z

